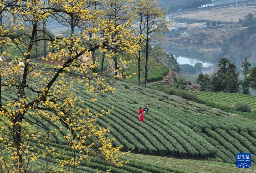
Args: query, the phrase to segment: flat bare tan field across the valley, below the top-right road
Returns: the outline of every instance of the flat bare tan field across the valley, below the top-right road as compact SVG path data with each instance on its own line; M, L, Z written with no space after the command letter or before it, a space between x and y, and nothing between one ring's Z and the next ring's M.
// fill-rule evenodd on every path
M254 7L227 7L211 9L206 11L191 12L176 17L191 18L191 19L206 19L206 20L221 20L225 22L238 22L243 19L248 13L255 14L256 8Z

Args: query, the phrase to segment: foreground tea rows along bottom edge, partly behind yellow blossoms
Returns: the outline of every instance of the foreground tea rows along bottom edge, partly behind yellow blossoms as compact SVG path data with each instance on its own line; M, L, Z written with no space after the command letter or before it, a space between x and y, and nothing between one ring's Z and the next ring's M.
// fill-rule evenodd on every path
M28 141L28 144L33 147L37 147L37 153L46 152L45 149L41 148L38 145L38 141ZM54 143L51 143L55 145ZM66 145L58 145L55 147L55 150L52 152L56 155L59 155L59 158L48 157L48 161L50 162L48 167L49 171L59 171L62 167L57 164L58 159L63 158L72 158L74 155L73 152L67 152ZM37 170L40 172L42 170L43 165L45 164L45 159L41 157L37 159L31 167L31 171ZM80 166L75 169L72 168L73 171L79 173L94 173L99 172L103 173L107 170L113 173L130 173L130 172L138 172L138 173L196 173L196 172L247 172L244 169L237 169L234 164L226 164L215 161L197 161L197 160L184 160L177 158L166 158L159 156L150 156L150 155L141 155L141 154L130 154L129 156L122 159L123 161L129 160L127 164L123 166L115 166L110 164L109 162L103 161L97 158L91 158L91 161L80 161ZM202 168L204 168L202 170ZM253 171L252 171L253 172Z

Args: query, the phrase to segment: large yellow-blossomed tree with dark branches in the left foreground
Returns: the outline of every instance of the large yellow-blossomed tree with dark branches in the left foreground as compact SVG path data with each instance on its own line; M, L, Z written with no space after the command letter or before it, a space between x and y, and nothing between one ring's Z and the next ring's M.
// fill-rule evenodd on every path
M95 71L97 63L87 57L97 49L108 56L134 54L139 49L139 37L129 29L132 19L114 23L101 18L90 0L6 2L0 1L1 11L10 19L8 25L0 27L1 56L13 59L0 62L0 170L67 172L82 160L90 161L89 155L121 165L121 147L112 147L113 139L104 136L109 129L95 120L110 111L98 115L79 108L83 102L77 99L73 85L84 83L83 89L95 96L92 101L97 101L98 93L115 91ZM49 26L59 23L65 31L52 36L40 29L46 18ZM35 45L45 41L49 43L48 55L41 62L33 61ZM21 56L13 55L14 49ZM56 129L50 128L53 124ZM61 145L66 147L58 150ZM61 156L70 152L72 156ZM38 166L38 159L45 164Z

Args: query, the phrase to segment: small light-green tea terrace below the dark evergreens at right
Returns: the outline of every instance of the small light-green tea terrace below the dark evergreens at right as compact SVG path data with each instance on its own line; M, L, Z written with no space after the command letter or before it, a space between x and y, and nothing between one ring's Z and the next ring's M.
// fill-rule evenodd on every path
M256 97L238 93L215 93L204 91L188 91L199 97L199 99L216 101L218 103L234 105L239 102L248 103L252 111L256 112Z

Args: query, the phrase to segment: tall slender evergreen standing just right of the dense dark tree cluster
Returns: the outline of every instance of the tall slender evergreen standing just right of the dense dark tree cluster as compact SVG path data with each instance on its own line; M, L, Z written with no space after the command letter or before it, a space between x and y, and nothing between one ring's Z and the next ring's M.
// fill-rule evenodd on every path
M244 80L242 82L242 93L243 94L249 94L249 84L250 84L250 80L249 80L249 76L248 74L250 73L250 66L251 63L249 63L247 61L247 58L244 58L243 64L241 67L243 67L243 75L244 75Z

